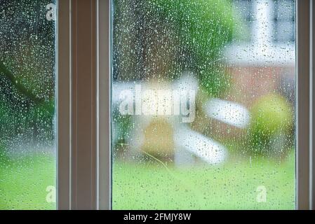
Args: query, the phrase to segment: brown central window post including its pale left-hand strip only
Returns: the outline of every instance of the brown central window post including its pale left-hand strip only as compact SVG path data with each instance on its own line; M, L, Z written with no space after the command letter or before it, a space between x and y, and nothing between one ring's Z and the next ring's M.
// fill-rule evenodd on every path
M58 209L97 209L95 0L59 1Z

